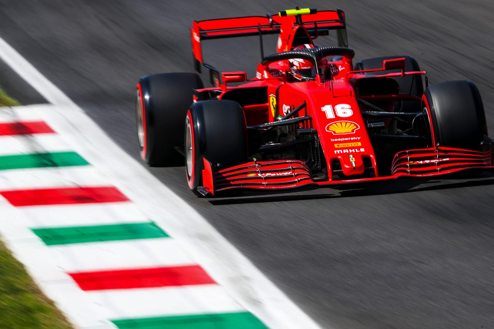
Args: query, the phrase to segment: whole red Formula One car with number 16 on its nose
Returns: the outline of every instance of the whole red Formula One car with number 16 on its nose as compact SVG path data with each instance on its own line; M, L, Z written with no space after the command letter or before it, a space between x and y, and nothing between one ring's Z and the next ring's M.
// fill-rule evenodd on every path
M330 30L338 46L315 46ZM269 34L278 35L277 52L264 56ZM203 40L256 35L262 59L255 78L204 63ZM410 56L354 65L342 10L194 21L191 39L195 69L209 69L213 87L196 73L144 76L136 114L142 159L166 166L185 157L197 195L493 169L477 87L428 86Z

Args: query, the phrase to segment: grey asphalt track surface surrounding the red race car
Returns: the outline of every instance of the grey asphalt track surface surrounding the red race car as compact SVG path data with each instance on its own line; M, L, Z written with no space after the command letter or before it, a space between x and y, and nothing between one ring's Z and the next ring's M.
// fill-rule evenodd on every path
M193 19L295 4L344 9L356 60L412 55L430 83L471 79L494 135L491 0L1 0L0 36L138 158L135 83L149 73L191 71ZM274 45L266 38L266 53ZM223 71L252 76L259 56L256 37L205 42L205 58ZM21 101L39 101L7 68L1 77L13 79L6 89L24 94ZM494 324L492 175L199 199L183 167L150 170L323 328Z

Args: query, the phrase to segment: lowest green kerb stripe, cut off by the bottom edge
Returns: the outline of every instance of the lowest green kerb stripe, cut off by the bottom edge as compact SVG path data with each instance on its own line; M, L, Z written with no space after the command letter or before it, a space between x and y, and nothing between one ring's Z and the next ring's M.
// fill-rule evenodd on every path
M248 312L113 320L120 329L267 329Z

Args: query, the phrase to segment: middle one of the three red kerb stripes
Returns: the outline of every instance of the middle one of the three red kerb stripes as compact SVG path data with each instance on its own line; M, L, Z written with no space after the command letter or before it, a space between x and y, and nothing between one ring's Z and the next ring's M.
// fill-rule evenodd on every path
M2 191L0 194L16 207L128 201L116 187L28 189Z

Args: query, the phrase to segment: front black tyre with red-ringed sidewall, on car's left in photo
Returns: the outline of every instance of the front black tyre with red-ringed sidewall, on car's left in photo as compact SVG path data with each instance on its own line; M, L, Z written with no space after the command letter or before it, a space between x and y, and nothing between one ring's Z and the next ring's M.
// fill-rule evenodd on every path
M225 169L247 162L247 126L237 102L194 103L185 118L185 173L191 191L203 184L204 158Z

